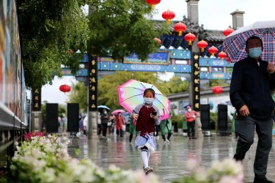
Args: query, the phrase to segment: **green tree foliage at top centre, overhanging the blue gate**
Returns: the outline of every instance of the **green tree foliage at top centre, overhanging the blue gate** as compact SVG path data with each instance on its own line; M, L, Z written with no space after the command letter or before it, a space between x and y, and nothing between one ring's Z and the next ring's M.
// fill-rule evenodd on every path
M87 51L99 56L109 55L122 60L136 53L145 60L159 47L155 37L169 34L169 26L163 22L156 29L151 7L145 1L94 0L90 6L89 37Z

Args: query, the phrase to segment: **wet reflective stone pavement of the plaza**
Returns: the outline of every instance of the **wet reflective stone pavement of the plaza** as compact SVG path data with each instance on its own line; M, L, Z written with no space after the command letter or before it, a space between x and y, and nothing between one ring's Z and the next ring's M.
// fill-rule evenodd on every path
M71 139L68 151L76 158L90 158L97 165L107 168L110 164L115 164L122 169L141 169L143 164L138 152L134 147L134 142L128 142L129 135L124 138L108 136L107 139L98 138L88 140L85 137ZM134 139L133 139L134 140ZM201 166L210 167L214 160L231 158L237 146L237 139L233 137L203 137L201 139L191 139L181 135L174 135L171 143L164 143L163 140L156 140L157 151L150 156L149 166L154 168L155 174L162 182L171 182L189 173L186 162L189 157L195 157ZM253 163L258 138L255 134L254 144L251 145L243 161L245 182L253 182ZM75 149L80 149L80 154L76 155ZM270 152L267 178L275 181L275 139Z

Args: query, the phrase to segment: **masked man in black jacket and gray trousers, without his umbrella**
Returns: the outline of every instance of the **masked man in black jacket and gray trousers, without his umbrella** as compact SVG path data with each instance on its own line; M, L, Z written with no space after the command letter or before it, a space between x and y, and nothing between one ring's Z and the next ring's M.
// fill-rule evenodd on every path
M234 158L243 160L258 134L254 162L254 183L272 183L266 178L268 155L272 146L272 112L274 101L271 89L275 83L275 67L262 61L263 43L252 36L246 41L248 57L234 65L230 84L230 100L237 109L235 132L239 135Z

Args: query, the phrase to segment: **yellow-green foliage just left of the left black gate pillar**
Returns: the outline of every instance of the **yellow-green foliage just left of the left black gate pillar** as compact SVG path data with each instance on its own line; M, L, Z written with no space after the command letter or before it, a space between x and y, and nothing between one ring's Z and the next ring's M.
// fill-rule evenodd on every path
M84 86L83 82L72 84L69 98L70 103L79 103L79 110L87 111L87 87Z

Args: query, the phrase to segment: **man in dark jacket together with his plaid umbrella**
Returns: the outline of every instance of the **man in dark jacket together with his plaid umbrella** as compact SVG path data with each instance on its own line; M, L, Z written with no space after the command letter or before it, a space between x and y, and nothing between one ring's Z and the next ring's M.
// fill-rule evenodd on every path
M244 159L254 142L255 127L259 137L254 183L273 182L266 178L266 169L272 147L275 105L270 94L275 83L274 27L275 21L256 22L236 30L223 43L229 59L238 61L230 84L230 100L237 110L235 132L239 135L234 158Z

